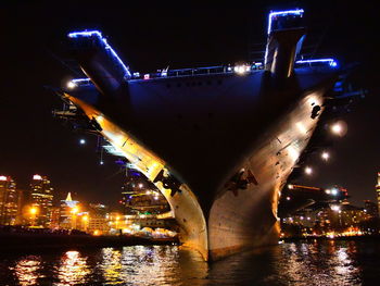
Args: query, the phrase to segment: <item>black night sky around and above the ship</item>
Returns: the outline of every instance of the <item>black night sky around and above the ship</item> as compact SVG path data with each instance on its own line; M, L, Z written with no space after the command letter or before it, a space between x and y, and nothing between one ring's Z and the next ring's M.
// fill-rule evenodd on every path
M80 146L83 135L51 114L61 102L43 86L59 87L75 76L53 57L66 59L68 32L101 29L135 71L226 64L249 60L253 47L264 49L268 11L299 7L305 9L316 57L331 55L342 65L359 62L354 82L369 90L343 117L349 132L335 141L331 162L315 165L315 174L304 182L345 186L358 204L375 199L380 171L380 25L379 9L371 1L12 2L0 4L0 173L14 177L21 188L38 173L51 178L61 198L67 191L93 202L114 203L119 198L123 171L114 158L100 165L96 138L87 135L88 142Z

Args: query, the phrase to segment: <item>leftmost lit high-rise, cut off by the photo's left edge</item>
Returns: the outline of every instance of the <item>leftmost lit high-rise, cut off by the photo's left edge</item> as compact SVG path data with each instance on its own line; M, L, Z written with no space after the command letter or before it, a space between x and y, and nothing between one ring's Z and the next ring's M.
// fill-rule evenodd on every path
M10 176L0 176L0 224L14 225L20 208L16 184Z

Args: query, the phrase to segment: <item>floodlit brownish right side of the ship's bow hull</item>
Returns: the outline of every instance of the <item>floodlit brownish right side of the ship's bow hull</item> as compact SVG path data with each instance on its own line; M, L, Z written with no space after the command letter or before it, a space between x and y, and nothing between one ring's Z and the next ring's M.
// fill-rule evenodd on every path
M263 135L237 169L242 171L243 187L228 179L220 186L207 217L212 260L277 244L281 189L317 125L311 111L313 105L322 104L322 90L304 95ZM251 181L246 179L249 172L254 174Z

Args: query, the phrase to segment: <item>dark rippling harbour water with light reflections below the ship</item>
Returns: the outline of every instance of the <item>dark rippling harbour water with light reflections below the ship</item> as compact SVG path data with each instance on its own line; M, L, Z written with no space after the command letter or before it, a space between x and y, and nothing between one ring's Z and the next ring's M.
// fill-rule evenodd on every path
M0 285L380 285L380 241L287 243L212 264L178 246L2 252Z

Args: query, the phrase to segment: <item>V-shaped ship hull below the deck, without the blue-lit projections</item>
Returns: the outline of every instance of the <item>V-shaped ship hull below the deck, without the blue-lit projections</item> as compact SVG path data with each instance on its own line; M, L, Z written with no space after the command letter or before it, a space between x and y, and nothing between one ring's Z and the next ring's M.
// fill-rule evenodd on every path
M180 240L217 260L277 241L281 189L333 78L300 71L287 86L273 87L258 71L137 80L129 83L128 102L111 107L102 105L104 98L89 104L66 96L163 192ZM178 191L157 179L162 172L180 182Z

